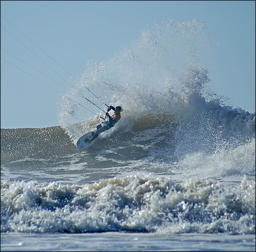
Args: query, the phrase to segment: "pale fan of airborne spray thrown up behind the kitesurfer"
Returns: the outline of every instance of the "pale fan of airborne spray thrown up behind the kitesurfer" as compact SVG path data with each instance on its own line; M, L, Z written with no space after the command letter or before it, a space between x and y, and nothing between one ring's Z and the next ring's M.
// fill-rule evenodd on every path
M60 101L60 125L74 143L81 133L95 127L98 116L78 103L98 115L101 111L81 95L102 108L104 105L88 89L107 104L122 105L122 120L129 121L127 127L142 113L156 114L161 109L168 114L182 114L189 106L189 95L197 92L201 96L208 88L205 67L215 47L215 41L207 36L205 22L194 19L176 25L171 20L156 23L142 32L131 49L117 52L108 62L88 64L80 81L74 82L76 89L71 88Z

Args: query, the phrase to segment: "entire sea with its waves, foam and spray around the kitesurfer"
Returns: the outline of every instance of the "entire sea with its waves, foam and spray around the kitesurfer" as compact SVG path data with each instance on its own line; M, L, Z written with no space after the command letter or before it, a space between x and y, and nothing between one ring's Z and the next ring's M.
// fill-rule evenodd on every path
M1 129L2 251L255 250L255 113L211 90L205 26L156 23L69 80L60 126ZM84 97L124 111L81 151Z

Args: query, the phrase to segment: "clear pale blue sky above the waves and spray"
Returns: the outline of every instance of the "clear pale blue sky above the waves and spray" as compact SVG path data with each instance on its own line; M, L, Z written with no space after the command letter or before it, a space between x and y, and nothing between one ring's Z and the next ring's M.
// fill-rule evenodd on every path
M255 112L255 1L1 1L1 57L55 87L8 54L60 82L70 78L12 25L79 79L89 61L111 60L155 21L194 18L205 21L207 32L220 42L210 70L214 90L233 106ZM1 128L59 125L59 94L5 60L1 58Z

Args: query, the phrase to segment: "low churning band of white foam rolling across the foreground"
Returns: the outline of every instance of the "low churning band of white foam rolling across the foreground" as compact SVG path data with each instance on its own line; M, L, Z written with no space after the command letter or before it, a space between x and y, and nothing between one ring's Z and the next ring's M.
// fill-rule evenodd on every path
M1 182L1 232L255 234L255 179L175 182L134 173L91 185Z

